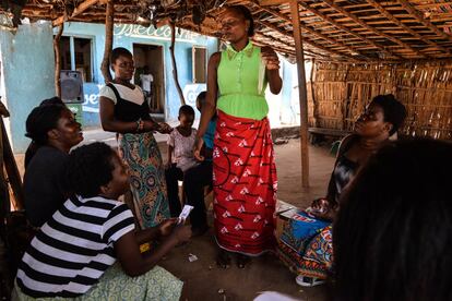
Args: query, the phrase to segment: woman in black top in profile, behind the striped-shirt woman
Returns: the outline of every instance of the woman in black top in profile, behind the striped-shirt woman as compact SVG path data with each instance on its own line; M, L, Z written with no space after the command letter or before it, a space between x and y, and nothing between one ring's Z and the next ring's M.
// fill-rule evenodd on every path
M32 143L24 176L25 214L33 226L40 227L69 196L63 182L66 162L83 134L81 124L62 103L43 101L26 119L26 136Z

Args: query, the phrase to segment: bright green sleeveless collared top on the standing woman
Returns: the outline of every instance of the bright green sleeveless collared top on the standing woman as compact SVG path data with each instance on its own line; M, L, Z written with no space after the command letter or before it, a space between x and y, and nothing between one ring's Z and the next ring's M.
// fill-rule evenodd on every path
M241 118L261 120L269 113L265 100L266 79L263 75L259 89L261 48L248 43L241 51L228 46L222 52L217 70L218 110ZM262 72L262 69L261 69ZM263 73L265 70L263 69Z

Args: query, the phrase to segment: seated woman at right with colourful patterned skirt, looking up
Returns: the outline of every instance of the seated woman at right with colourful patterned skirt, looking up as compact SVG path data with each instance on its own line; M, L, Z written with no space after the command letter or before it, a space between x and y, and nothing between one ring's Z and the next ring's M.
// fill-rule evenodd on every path
M300 213L284 229L278 254L298 274L300 286L314 286L326 279L333 255L331 222L340 207L341 193L367 159L389 143L405 117L405 107L393 95L376 96L356 121L354 134L341 143L326 197L316 200L307 209L309 215ZM318 229L307 231L313 222Z

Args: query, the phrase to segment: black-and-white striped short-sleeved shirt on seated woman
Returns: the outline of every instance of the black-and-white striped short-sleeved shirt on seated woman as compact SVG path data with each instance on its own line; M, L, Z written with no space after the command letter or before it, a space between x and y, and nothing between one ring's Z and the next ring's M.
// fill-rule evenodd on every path
M114 242L132 230L124 203L71 197L32 240L17 285L34 298L81 296L116 262Z

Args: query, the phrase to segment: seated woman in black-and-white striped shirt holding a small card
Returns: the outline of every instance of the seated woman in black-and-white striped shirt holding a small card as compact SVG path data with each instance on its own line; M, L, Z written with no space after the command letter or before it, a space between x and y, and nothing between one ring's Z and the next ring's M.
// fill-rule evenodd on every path
M134 231L132 213L116 201L129 188L128 173L104 143L74 149L67 178L78 196L66 201L33 239L19 267L13 300L179 300L182 282L156 264L189 240L190 228L167 219ZM140 244L156 239L155 251L140 253Z

